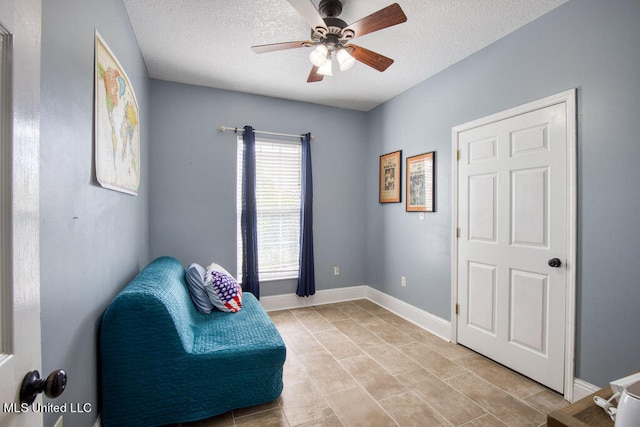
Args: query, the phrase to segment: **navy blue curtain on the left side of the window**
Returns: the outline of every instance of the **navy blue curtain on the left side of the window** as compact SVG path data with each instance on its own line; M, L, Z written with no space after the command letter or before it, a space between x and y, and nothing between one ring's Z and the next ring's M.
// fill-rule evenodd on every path
M258 277L258 214L256 211L256 135L244 127L242 148L242 291L260 299Z

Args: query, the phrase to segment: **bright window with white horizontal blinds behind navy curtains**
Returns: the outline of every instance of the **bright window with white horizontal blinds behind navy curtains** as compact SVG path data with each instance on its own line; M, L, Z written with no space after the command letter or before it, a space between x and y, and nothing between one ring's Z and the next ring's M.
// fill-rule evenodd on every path
M242 136L238 137L238 280L242 280ZM260 281L298 277L302 147L256 135L256 205Z

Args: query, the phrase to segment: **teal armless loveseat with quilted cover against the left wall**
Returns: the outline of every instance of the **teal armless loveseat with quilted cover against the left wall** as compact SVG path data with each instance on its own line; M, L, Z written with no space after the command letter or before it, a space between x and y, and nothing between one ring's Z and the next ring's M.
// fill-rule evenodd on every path
M282 392L284 342L258 300L237 313L198 312L175 258L146 266L100 327L102 425L196 421L272 401Z

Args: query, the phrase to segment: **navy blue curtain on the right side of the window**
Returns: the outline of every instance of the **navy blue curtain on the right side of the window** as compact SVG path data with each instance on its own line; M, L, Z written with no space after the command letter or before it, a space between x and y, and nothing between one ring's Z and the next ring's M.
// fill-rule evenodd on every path
M300 210L300 266L296 294L316 293L313 267L313 182L311 179L311 134L302 138L302 209Z

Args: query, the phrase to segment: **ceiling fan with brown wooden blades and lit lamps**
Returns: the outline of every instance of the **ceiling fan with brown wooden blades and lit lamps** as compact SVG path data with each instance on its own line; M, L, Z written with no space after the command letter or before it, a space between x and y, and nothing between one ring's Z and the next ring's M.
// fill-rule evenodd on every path
M318 10L311 0L287 0L311 26L311 40L264 44L252 46L256 53L275 52L285 49L312 47L309 55L313 64L307 82L319 82L332 75L331 59L335 55L341 71L348 70L355 61L360 61L378 71L384 71L393 59L369 49L351 44L356 37L382 30L407 21L407 16L398 3L393 3L347 25L338 15L342 12L340 0L321 0Z

